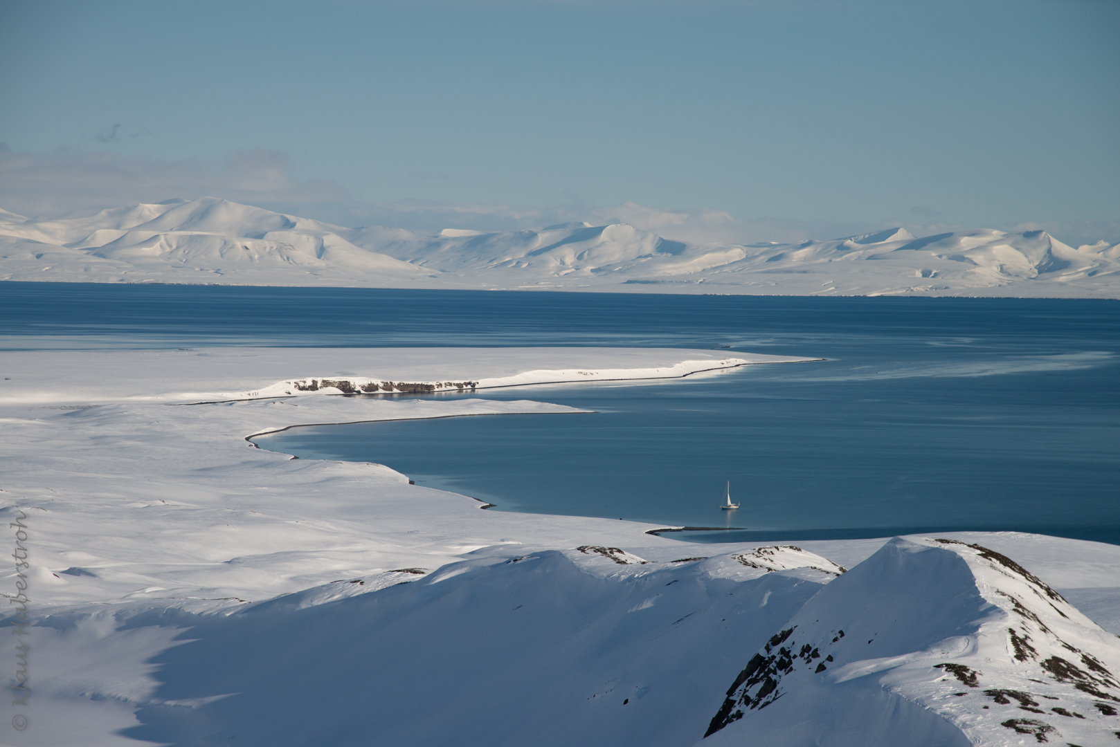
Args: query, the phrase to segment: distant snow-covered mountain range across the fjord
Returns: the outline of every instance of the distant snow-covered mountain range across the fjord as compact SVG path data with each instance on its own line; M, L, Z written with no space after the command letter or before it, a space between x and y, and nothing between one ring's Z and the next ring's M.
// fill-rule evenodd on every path
M0 280L374 288L1120 298L1120 245L904 228L693 244L627 224L479 233L346 228L214 197L59 218L0 211Z

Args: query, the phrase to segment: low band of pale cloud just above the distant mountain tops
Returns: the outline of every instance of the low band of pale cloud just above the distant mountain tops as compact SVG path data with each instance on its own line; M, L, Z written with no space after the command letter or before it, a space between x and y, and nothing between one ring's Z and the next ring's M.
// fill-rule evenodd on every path
M115 134L118 130L110 130ZM106 136L109 137L109 136ZM916 208L884 222L738 218L717 209L659 208L626 202L613 206L579 203L544 207L402 199L355 200L328 180L296 178L291 160L276 150L244 150L224 160L165 161L112 151L59 149L48 153L13 152L0 144L0 208L26 216L53 216L137 203L189 199L209 195L339 225L385 225L426 233L442 228L516 231L559 223L628 223L674 241L752 244L836 239L902 226L915 235L960 228L1045 230L1077 246L1120 241L1120 222L1037 222L961 226L939 222L941 214ZM924 218L924 221L923 221Z

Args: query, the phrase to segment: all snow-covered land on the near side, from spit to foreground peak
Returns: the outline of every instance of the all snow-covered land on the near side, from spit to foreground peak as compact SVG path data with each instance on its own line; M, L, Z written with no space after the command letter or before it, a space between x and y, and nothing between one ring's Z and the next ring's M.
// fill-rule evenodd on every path
M9 654L28 644L31 694L7 715L28 727L4 719L0 743L1116 744L1118 547L1017 533L697 545L651 524L480 511L381 465L245 440L310 422L587 417L395 389L252 395L278 381L744 363L713 351L6 353L0 513L26 527L34 624ZM749 522L749 506L740 514ZM15 596L17 580L9 569L0 590Z

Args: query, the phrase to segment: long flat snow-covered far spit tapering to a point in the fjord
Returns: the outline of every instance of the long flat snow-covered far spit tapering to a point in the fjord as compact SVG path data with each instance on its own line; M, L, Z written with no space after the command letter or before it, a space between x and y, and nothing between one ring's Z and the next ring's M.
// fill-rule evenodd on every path
M635 347L270 348L6 352L0 404L232 401L469 392L680 379L820 358Z

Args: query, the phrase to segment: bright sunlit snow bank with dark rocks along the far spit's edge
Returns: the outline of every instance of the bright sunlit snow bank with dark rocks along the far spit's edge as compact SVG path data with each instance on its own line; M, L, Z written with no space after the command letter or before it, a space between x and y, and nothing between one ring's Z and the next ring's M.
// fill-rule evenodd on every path
M543 384L572 384L578 382L612 382L612 381L654 381L666 379L684 379L699 373L726 371L748 365L775 363L811 363L824 358L791 358L781 356L754 356L745 358L724 358L722 361L681 361L672 366L657 368L606 368L606 370L534 370L516 373L512 376L501 376L460 381L413 381L393 382L368 376L320 376L291 379L277 382L259 390L233 394L226 399L179 404L222 404L246 400L281 399L289 396L307 396L312 394L353 395L353 394L427 394L440 392L474 392L484 389L508 389L513 386L533 386Z

